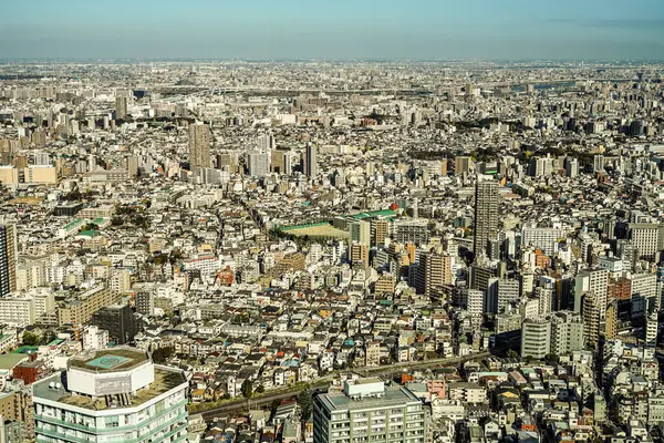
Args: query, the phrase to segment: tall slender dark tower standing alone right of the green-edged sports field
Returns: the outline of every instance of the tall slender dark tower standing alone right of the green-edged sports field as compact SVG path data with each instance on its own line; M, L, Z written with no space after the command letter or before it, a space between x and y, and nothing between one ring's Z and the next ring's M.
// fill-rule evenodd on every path
M475 186L475 256L485 255L488 241L498 234L498 185L494 181L478 182Z

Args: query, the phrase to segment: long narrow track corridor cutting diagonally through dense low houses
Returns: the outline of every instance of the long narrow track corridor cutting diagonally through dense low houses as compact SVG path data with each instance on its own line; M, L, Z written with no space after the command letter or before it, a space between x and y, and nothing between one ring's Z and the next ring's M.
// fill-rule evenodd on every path
M429 367L452 367L465 363L467 361L484 359L490 356L490 352L478 352L473 356L467 357L455 357L448 359L430 359L423 361L414 361L407 363L395 363L388 367L378 367L378 368L361 368L355 370L347 370L341 372L355 372L363 377L385 377L385 375L395 375L402 373L404 370L411 369L424 369ZM335 371L329 375L321 377L315 381L309 383L312 389L326 388L330 382L339 375L340 371ZM274 393L266 393L259 398L251 399L250 406L251 409L261 409L262 406L270 405L274 400L286 400L295 396L300 393L301 388L293 388L286 391L274 392ZM227 412L238 411L248 408L248 402L245 399L239 399L236 401L230 401L222 406L215 408L209 411L201 412L203 418L206 422L212 421L215 416L222 415Z

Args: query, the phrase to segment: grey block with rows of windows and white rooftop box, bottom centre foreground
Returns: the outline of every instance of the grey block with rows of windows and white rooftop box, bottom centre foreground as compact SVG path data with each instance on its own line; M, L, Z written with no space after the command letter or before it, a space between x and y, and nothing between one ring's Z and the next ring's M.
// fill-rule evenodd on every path
M371 431L369 431L371 430ZM343 391L319 394L313 404L313 443L374 441L424 443L428 418L407 388L386 387L380 379L346 380Z

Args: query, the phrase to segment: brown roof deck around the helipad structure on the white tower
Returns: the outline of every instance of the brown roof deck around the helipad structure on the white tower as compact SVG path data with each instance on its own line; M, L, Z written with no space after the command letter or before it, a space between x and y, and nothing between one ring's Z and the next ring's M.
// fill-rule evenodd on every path
M144 389L136 391L136 395L129 395L131 404L113 408L107 403L106 398L104 396L95 399L89 395L73 394L64 384L62 384L62 380L65 379L62 374L63 373L56 373L48 379L35 382L32 385L33 395L37 399L56 401L72 406L89 409L91 411L105 411L110 409L138 406L187 382L184 373L180 370L155 368L155 381ZM51 382L61 383L61 385L60 388L49 388Z

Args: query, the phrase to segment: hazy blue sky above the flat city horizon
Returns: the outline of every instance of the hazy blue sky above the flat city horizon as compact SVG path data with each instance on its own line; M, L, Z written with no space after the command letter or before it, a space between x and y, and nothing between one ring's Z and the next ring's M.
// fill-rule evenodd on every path
M664 0L4 0L0 58L662 60Z

